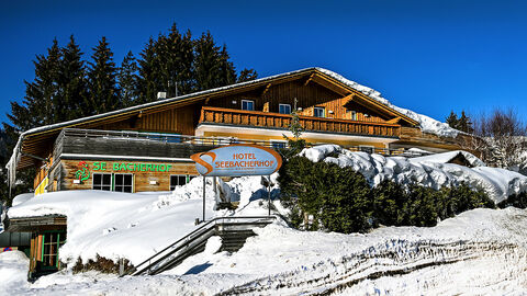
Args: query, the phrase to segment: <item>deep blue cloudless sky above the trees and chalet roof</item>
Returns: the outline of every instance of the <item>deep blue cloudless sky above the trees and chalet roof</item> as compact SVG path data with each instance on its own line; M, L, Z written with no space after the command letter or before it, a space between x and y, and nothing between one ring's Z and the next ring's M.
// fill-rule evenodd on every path
M0 121L33 80L35 55L74 34L106 36L115 61L176 22L210 30L260 77L324 67L444 121L451 110L527 113L527 1L2 1Z

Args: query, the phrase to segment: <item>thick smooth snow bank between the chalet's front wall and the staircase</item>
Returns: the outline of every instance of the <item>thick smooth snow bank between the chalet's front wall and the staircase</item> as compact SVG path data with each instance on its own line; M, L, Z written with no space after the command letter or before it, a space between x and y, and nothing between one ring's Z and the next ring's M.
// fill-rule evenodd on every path
M222 196L238 201L237 210L213 210L212 178L208 178L206 219L227 215L267 215L267 189L260 177L237 178L228 183L217 180ZM274 191L273 196L277 194ZM253 203L255 202L255 203ZM85 262L97 254L117 260L126 258L138 264L156 250L176 241L202 218L203 179L194 178L170 194L117 193L108 191L63 191L45 193L11 207L10 218L65 215L68 219L67 242L60 260ZM280 207L280 203L274 203Z

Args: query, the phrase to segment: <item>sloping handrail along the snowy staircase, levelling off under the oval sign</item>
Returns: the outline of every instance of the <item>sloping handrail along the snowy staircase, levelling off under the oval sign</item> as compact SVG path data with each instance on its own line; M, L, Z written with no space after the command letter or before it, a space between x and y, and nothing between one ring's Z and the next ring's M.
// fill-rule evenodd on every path
M171 254L173 254L175 252L179 251L181 248L183 248L186 244L189 244L191 243L192 241L194 241L195 239L198 239L199 237L201 237L203 234L206 234L206 231L209 231L212 226L215 226L217 224L218 220L240 220L240 219L276 219L277 217L276 216L227 216L227 217L215 217L209 221L206 221L205 224L203 224L202 226L198 227L197 229L192 230L190 234L186 235L184 237L178 239L177 241L172 242L170 246L164 248L162 250L158 251L157 253L155 253L154 255L149 257L148 259L146 259L145 261L141 262L139 264L137 264L137 266L135 266L135 270L133 272L128 272L127 274L142 274L143 272L147 271L152 265L156 265L158 263L160 263L162 260L167 259L168 257L170 257ZM199 235L198 235L199 234ZM181 242L184 242L184 244L181 244L179 247L176 247L177 244L181 243ZM167 254L164 254L161 258L159 259L156 259L154 262L152 262L156 257L162 254L165 251L169 250L169 249L173 249L171 250L170 252L168 252ZM139 270L139 266L143 266L145 265L146 263L148 263L147 266L143 267Z

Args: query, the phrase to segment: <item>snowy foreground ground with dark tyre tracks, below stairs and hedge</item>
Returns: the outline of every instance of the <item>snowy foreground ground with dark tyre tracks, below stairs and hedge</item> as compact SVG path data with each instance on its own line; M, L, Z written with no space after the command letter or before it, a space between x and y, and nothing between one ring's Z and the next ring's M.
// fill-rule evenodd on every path
M205 252L155 276L68 271L10 295L522 295L527 291L527 212L473 209L436 227L367 235L303 232L276 223L236 253ZM18 264L23 265L24 260ZM0 257L0 270L9 264ZM19 269L19 276L25 271ZM11 275L12 276L12 275Z

